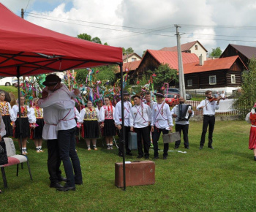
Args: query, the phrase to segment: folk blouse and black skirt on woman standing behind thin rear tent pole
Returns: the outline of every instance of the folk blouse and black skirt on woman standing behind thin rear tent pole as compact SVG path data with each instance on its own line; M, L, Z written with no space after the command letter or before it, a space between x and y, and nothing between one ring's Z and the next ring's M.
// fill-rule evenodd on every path
M22 137L30 137L30 125L33 124L35 118L31 114L31 108L27 105L20 107L21 108L21 132L23 132ZM12 121L15 121L15 138L19 137L20 133L20 124L19 124L19 107L14 105L12 107L14 118Z

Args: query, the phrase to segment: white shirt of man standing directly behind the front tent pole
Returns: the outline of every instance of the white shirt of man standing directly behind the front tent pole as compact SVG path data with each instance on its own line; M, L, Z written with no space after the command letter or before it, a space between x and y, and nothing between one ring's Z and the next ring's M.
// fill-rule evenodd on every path
M131 102L124 102L124 126L129 126L129 110L131 110L132 104ZM115 124L121 124L121 101L117 102L116 110L114 113Z

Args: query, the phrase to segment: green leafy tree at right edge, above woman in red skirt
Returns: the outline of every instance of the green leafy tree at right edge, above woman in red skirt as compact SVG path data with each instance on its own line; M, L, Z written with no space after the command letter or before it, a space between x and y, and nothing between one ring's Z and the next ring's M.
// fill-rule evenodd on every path
M240 111L243 117L255 105L256 99L256 58L252 58L249 62L249 71L242 73L241 91L238 90L236 94L236 102L234 107Z

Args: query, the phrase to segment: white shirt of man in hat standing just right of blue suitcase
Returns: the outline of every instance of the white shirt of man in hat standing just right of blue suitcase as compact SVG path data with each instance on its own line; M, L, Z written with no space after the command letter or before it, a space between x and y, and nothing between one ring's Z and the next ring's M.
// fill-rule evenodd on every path
M148 122L150 121L151 109L148 105L144 103L143 110L141 105L135 105L129 112L129 126L134 126L135 128L143 128L148 126Z

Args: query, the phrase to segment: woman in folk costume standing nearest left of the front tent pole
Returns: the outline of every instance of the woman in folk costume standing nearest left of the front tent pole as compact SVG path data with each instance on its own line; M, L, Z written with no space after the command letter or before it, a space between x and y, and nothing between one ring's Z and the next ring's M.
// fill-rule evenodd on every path
M104 121L100 126L103 128L103 136L105 136L108 149L113 149L113 136L116 135L114 112L115 107L112 106L109 97L105 97L105 105L100 108L99 113L100 119Z

